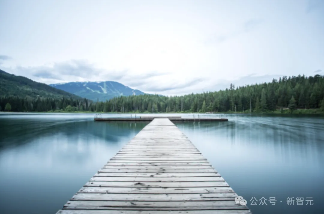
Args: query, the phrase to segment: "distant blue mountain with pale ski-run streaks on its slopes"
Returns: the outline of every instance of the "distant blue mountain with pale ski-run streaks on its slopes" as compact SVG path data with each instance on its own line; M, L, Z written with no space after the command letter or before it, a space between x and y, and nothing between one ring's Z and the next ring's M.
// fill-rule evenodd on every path
M50 86L93 101L97 101L97 99L99 101L106 101L118 96L144 94L144 92L140 90L131 89L119 82L114 81L68 82L51 84Z

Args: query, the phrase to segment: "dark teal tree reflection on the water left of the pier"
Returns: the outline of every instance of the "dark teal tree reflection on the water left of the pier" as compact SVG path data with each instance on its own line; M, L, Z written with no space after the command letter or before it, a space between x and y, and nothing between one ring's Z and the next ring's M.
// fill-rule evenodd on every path
M62 134L99 137L112 143L137 134L147 123L94 122L89 120L0 119L0 147L28 143L36 138Z

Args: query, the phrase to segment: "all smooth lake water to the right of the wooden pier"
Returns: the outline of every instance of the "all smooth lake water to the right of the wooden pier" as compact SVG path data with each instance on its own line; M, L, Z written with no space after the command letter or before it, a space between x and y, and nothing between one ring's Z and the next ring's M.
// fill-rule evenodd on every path
M253 213L322 213L323 118L231 115L177 126L248 205L277 198L275 206L249 206ZM289 207L287 197L313 197L314 206Z

